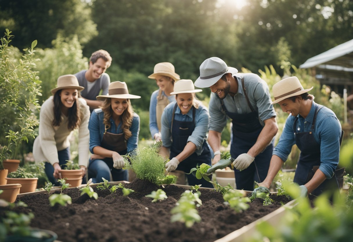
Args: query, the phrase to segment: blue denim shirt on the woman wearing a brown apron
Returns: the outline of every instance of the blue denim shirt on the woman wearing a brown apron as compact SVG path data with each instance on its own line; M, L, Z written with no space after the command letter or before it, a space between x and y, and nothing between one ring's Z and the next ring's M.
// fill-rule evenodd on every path
M94 154L93 148L95 146L101 146L101 141L103 140L103 134L105 131L103 118L104 118L104 112L102 111L102 109L98 108L92 112L89 120L89 124L88 124L88 129L90 133L89 149L92 154ZM112 119L112 117L110 117L110 128L107 131L113 134L121 134L122 133L121 123L122 122L120 122L118 127L116 127L114 120ZM133 113L133 119L132 119L130 131L132 133L132 136L126 141L127 152L130 152L137 148L138 133L140 131L140 117L136 113Z

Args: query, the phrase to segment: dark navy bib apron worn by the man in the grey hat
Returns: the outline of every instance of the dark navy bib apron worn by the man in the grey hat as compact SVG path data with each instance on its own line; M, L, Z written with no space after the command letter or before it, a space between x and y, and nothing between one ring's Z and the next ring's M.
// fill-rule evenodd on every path
M226 112L227 116L232 119L233 140L231 144L231 155L234 159L236 159L240 154L247 153L250 150L250 148L256 143L256 140L263 129L259 121L258 113L253 109L250 100L247 97L243 76L241 77L241 85L243 85L244 95L247 104L251 109L251 113L238 114L228 112L223 100L220 99L222 109ZM269 144L263 152L255 157L255 160L248 168L241 172L234 169L237 189L252 191L254 190L254 180L256 182L263 182L270 166L273 142L271 142L271 144Z

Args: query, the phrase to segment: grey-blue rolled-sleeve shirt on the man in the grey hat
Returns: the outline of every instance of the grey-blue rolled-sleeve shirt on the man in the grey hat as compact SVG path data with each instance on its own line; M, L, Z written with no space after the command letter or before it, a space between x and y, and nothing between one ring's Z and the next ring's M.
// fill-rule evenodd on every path
M264 126L264 120L276 116L276 111L271 104L272 101L268 85L256 74L245 73L241 75L244 75L246 94L249 98L251 106L255 111L257 111L259 121L261 125ZM227 111L231 113L251 113L251 109L245 98L243 85L241 84L241 77L239 74L235 74L234 78L235 81L238 82L238 92L234 97L228 94L226 98L223 99L224 105L226 106ZM228 116L223 111L220 99L217 97L216 93L211 92L209 109L210 130L222 133L223 128L227 124Z

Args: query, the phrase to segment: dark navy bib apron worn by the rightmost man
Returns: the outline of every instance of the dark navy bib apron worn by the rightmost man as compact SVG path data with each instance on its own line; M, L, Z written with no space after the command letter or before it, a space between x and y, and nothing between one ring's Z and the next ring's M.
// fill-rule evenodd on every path
M298 183L299 185L304 185L309 182L321 163L320 144L316 142L313 133L315 133L315 122L317 113L323 107L324 106L322 105L317 105L310 131L296 132L298 117L295 118L293 123L295 144L297 144L299 150L301 151L293 181L295 183ZM298 130L300 129L298 128ZM342 142L342 138L343 131L341 133L340 144ZM311 192L311 194L318 196L322 193L323 190L333 191L339 189L340 185L337 177L342 177L343 179L344 168L338 169L334 173L335 174L333 178L324 180L324 182L321 183L318 188L316 188L313 192Z

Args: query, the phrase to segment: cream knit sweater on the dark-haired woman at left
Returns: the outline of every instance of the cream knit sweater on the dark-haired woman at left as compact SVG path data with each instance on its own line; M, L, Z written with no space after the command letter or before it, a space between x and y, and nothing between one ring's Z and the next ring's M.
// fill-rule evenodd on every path
M81 124L78 131L78 164L88 167L89 161L89 130L88 121L90 117L89 107L83 98L77 102L81 110ZM33 156L36 162L46 161L52 165L59 163L58 150L64 150L70 146L72 131L68 130L68 119L61 115L60 126L53 126L54 101L49 97L42 105L39 118L39 135L34 140Z

